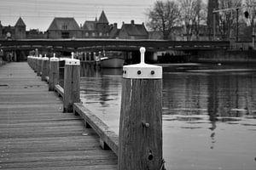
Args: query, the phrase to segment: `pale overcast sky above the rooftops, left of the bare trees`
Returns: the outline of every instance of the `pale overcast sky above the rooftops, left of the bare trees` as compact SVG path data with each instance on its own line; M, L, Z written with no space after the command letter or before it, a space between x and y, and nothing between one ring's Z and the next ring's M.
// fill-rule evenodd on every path
M108 22L141 24L147 21L146 11L156 0L0 0L0 20L3 26L15 26L21 17L26 30L47 31L54 17L73 17L79 24L99 18L102 10Z

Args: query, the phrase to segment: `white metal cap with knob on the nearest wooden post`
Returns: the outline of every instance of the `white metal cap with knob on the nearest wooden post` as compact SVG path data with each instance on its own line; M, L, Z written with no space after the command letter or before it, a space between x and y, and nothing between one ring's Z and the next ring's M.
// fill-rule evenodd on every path
M141 63L123 66L123 77L133 79L161 79L162 67L145 64L145 48L140 48Z

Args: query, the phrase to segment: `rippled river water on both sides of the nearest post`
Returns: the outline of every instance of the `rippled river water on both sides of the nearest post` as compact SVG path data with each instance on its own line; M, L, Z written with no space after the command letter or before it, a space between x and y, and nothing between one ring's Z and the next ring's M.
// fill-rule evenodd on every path
M256 65L163 65L166 169L256 169ZM119 133L122 70L84 69L81 100Z

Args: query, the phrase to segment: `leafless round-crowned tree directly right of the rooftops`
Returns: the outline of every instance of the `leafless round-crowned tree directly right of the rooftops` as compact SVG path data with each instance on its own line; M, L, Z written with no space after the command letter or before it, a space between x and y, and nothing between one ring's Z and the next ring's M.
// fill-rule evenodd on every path
M153 31L161 31L164 39L167 39L180 20L180 9L178 4L173 0L166 2L157 1L153 8L148 9L147 26Z

